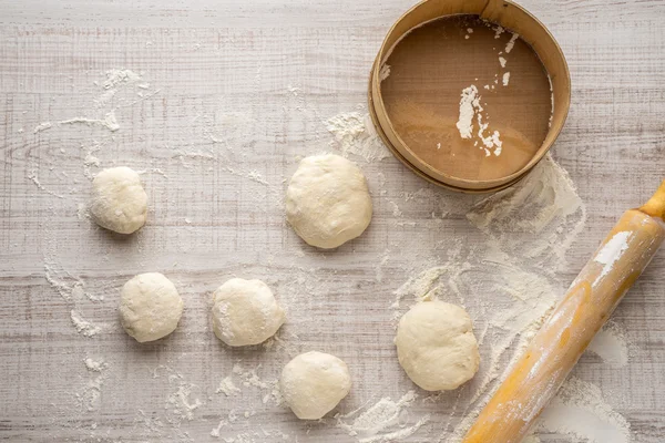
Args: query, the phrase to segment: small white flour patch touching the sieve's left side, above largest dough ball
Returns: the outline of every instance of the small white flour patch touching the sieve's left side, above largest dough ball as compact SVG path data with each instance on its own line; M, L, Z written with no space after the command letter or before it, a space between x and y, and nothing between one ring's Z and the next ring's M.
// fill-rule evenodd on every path
M378 162L390 156L375 131L369 114L348 112L337 114L326 122L326 128L335 136L331 142L334 147L341 151L341 155L359 155L365 161Z

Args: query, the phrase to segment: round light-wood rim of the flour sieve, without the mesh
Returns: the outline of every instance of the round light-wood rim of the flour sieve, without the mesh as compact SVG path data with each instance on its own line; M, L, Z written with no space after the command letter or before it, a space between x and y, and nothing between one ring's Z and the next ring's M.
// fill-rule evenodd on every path
M474 181L443 174L416 155L395 130L381 95L380 66L392 48L411 30L427 22L454 14L477 14L515 31L540 58L552 83L554 112L545 140L521 169L491 181ZM462 192L494 192L519 182L550 151L567 117L571 78L567 63L554 37L535 17L510 0L424 0L407 11L388 31L370 74L369 107L377 131L393 154L418 175L440 186Z

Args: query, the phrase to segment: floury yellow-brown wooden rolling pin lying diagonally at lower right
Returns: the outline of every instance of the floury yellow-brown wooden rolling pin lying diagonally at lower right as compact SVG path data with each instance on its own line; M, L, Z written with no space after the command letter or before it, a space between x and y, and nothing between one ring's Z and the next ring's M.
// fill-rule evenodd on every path
M520 443L665 239L665 182L627 210L518 359L462 443Z

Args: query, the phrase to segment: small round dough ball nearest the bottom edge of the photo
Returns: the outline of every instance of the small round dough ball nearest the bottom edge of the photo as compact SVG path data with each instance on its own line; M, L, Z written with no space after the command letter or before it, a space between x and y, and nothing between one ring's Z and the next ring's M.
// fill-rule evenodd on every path
M301 353L289 361L279 381L284 400L301 420L318 420L351 390L346 363L323 352Z

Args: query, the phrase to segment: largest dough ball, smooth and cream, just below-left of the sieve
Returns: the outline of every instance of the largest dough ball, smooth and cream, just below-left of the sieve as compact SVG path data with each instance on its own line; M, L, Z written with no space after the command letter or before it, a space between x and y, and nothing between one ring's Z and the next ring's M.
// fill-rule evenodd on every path
M309 245L336 248L365 231L371 198L362 171L339 155L304 158L286 190L286 218Z

